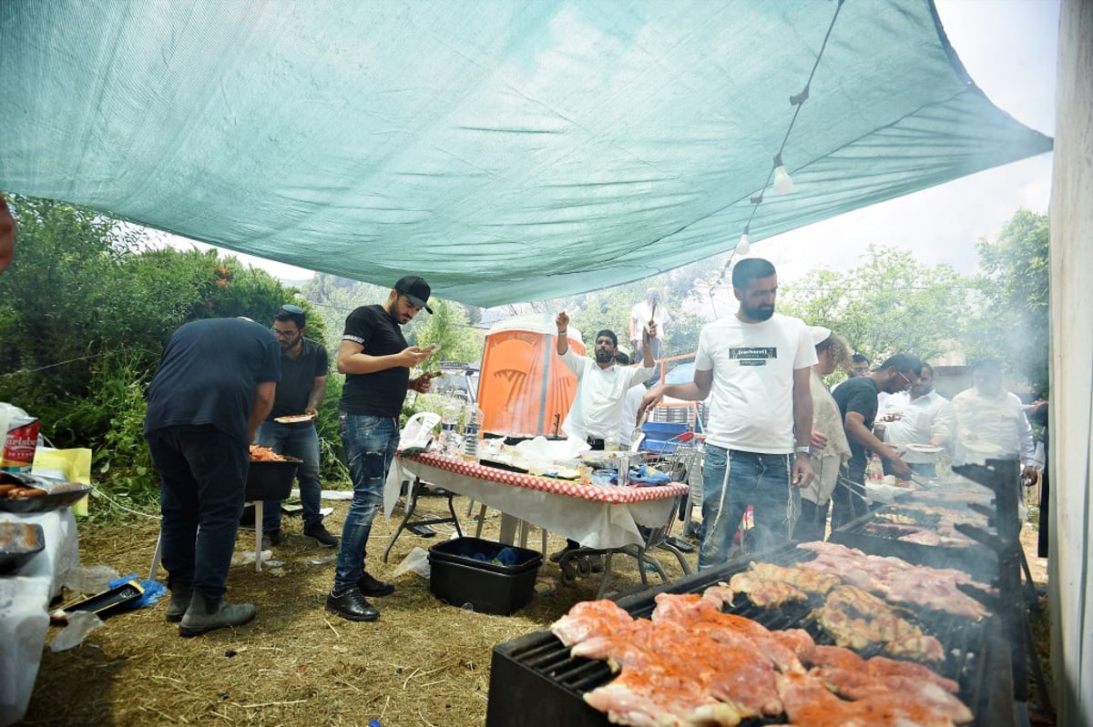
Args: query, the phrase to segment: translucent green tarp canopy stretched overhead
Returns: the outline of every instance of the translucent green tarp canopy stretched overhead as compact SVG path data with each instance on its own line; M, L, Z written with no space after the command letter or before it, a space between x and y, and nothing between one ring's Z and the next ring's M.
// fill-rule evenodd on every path
M0 68L0 189L479 306L1051 147L929 0L3 0Z

